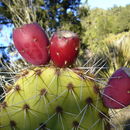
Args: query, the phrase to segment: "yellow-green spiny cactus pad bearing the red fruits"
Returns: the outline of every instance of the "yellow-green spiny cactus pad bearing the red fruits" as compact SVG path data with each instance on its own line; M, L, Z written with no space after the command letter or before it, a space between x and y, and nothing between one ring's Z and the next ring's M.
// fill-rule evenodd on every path
M0 105L0 130L110 130L92 75L34 67L17 78Z

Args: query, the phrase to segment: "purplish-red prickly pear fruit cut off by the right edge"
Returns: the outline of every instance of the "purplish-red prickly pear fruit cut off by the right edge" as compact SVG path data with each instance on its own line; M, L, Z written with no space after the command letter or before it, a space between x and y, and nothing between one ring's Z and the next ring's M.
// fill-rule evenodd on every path
M107 107L124 108L130 104L130 69L120 68L110 77L104 89L103 100Z

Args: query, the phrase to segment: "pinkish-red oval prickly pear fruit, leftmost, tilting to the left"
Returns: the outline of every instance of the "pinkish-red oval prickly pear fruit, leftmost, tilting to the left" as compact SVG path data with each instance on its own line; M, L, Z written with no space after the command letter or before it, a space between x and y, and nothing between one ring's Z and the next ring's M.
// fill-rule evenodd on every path
M49 40L44 30L37 24L25 24L13 31L16 49L31 64L43 65L49 62Z

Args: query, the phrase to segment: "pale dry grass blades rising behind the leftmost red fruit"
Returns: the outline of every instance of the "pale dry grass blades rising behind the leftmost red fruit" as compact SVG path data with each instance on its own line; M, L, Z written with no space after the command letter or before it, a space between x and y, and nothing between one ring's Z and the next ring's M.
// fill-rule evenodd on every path
M36 7L31 0L2 0L2 2L8 7L16 27L36 21Z

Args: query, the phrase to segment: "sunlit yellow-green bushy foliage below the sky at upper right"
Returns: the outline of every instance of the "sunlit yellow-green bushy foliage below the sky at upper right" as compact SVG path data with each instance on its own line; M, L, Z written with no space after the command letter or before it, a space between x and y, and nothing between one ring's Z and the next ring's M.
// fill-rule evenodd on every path
M128 32L130 30L130 5L113 7L109 10L93 9L87 17L81 18L82 28L86 29L83 42L95 53L102 51L104 39L109 35ZM110 39L111 40L111 39Z

